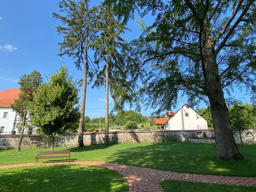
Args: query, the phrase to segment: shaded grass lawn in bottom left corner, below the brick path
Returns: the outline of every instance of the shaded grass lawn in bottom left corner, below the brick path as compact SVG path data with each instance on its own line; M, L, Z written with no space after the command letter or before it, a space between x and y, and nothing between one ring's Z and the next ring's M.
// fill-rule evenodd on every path
M0 191L128 192L128 182L104 167L44 165L0 170Z

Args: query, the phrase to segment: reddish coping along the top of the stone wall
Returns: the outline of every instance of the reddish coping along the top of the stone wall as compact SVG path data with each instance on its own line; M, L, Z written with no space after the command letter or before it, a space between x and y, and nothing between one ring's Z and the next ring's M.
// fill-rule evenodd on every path
M143 131L137 131L137 130L131 130L131 131L109 131L110 134L114 133L159 133L159 132L204 132L204 131L214 131L213 129L196 129L196 130L143 130ZM90 135L90 134L105 134L105 131L91 131L91 132L84 132L84 135ZM68 133L65 135L78 135L78 133ZM23 134L23 137L38 137L38 136L44 136L44 134ZM20 137L20 134L9 134L9 135L1 135L0 137Z

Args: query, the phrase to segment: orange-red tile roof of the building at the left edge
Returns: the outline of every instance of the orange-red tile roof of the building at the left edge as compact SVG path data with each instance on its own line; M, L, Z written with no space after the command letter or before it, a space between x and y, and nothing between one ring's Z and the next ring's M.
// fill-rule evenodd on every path
M20 89L6 89L0 91L0 107L10 107L14 99L19 98Z

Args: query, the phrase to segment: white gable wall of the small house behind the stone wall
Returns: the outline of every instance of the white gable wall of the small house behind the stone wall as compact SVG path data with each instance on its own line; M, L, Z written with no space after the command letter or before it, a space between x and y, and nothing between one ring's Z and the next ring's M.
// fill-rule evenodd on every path
M184 130L208 129L207 120L201 117L192 108L187 108L183 105L182 112ZM186 113L188 113L188 116L186 116ZM177 113L169 119L164 128L168 130L182 130L181 110L177 111Z

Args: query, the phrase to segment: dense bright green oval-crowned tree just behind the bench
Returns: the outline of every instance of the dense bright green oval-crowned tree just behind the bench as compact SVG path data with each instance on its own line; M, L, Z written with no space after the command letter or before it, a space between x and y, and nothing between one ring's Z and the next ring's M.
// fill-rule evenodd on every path
M72 78L63 64L60 70L49 75L47 83L38 87L29 104L32 124L50 138L51 151L55 137L72 129L79 114L79 89Z

